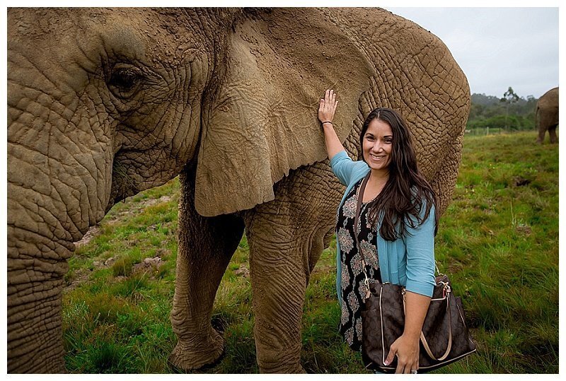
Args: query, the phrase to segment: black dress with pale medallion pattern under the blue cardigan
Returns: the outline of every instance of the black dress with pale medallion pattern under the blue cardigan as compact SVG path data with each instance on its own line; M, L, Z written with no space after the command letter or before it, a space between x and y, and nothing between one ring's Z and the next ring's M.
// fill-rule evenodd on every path
M354 351L361 351L362 349L362 295L366 292L362 256L359 254L354 237L354 217L356 216L358 202L357 192L362 180L359 180L348 193L344 204L338 211L336 224L336 238L340 242L340 260L342 262L340 334ZM360 209L358 240L368 265L369 282L381 282L376 232L371 230L371 223L367 218L367 204L363 203Z

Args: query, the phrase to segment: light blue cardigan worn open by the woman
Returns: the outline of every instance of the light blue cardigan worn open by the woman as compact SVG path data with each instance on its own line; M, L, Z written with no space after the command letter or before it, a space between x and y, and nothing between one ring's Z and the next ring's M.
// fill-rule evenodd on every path
M360 179L367 175L369 166L364 161L353 161L346 153L341 151L330 160L330 167L338 180L346 185L346 192L340 201L340 207L350 189ZM424 215L424 208L422 208ZM381 281L405 286L407 291L421 295L432 296L434 288L434 205L429 217L417 228L407 226L408 235L395 241L383 240L379 235L378 221L376 234L376 247L379 258ZM336 292L342 305L342 291L340 289L342 261L340 260L340 245L336 241Z

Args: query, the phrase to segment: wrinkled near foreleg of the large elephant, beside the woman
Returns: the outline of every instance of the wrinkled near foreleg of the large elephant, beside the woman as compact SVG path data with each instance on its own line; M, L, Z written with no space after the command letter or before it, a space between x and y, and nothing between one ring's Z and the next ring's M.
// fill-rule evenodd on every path
M304 373L301 317L308 279L328 245L340 187L316 163L277 184L274 201L245 215L254 337L261 373Z

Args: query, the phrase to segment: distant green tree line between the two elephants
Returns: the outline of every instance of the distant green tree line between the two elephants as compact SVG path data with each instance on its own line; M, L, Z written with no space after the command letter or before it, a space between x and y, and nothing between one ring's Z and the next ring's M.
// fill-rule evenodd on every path
M466 129L502 129L521 131L535 129L537 98L525 98L509 88L502 98L494 95L472 94L472 107Z

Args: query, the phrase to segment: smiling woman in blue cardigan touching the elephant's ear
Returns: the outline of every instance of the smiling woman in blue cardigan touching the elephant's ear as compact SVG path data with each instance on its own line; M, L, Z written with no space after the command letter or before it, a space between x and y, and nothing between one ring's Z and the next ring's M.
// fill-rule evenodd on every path
M406 288L405 329L389 348L386 365L395 356L395 373L417 373L419 338L434 288L434 235L438 215L432 187L417 169L415 150L397 112L377 108L360 134L363 161L352 161L340 143L332 120L336 94L326 90L318 119L323 125L330 166L346 192L337 213L337 294L342 308L340 333L350 348L362 346L364 271L369 281ZM369 175L354 236L360 184ZM357 242L359 247L357 247ZM368 269L364 269L362 250Z

